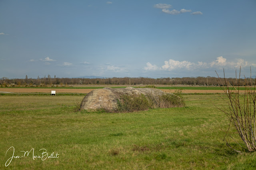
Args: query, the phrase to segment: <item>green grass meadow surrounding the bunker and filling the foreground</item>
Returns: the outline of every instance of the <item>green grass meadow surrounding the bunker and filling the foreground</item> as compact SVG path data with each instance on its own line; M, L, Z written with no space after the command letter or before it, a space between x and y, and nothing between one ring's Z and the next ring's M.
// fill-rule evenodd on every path
M256 169L256 153L226 147L219 95L184 95L186 107L134 113L77 112L83 97L0 96L0 169L10 147L14 156L58 152L34 160L31 151L10 169Z

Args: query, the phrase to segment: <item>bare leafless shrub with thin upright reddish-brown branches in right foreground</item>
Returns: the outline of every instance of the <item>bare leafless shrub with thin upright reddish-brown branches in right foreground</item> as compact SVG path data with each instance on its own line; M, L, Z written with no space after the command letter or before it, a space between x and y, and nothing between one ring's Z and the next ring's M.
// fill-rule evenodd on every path
M244 80L241 79L240 67L239 78L237 79L236 77L233 83L234 86L230 87L228 81L226 81L224 69L223 72L224 82L221 81L218 73L216 73L222 85L222 89L225 91L228 98L228 108L224 106L221 108L217 107L226 114L229 120L229 126L224 140L228 147L238 153L254 152L256 151L256 78L253 82L254 86L252 86L252 73L250 81L248 81L245 76ZM244 84L244 92L240 92L241 84ZM235 129L236 133L232 133L231 129ZM231 141L233 141L233 143ZM234 145L234 142L237 145Z

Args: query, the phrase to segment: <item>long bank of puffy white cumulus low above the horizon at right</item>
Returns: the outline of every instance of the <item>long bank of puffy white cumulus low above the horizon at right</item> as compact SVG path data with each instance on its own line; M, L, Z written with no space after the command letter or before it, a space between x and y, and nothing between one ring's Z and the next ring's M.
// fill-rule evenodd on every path
M248 64L247 61L244 61L244 59L235 59L233 61L227 61L224 57L220 56L217 57L215 61L212 61L210 63L205 63L202 61L198 61L197 63L193 63L190 61L176 61L170 59L169 61L164 61L164 65L161 67L156 66L155 64L146 63L147 66L144 67L144 70L177 70L177 69L183 69L183 70L195 70L195 69L206 69L206 68L239 68L246 67L246 66L255 66L256 64L250 63Z

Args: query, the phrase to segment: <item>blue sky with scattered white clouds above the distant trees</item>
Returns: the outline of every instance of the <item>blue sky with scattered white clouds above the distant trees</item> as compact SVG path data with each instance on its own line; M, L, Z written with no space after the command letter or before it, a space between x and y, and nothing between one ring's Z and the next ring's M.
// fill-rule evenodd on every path
M256 72L255 0L1 0L0 77Z

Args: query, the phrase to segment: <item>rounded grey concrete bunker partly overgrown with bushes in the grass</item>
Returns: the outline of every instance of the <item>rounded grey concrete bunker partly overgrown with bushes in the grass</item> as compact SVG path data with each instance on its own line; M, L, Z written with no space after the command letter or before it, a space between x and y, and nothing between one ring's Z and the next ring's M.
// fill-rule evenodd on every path
M175 94L165 93L162 90L156 88L127 87L102 88L92 90L82 100L81 109L106 109L108 111L120 112L123 111L120 110L120 106L122 106L123 104L125 105L127 103L126 99L129 99L129 101L135 101L138 100L138 98L141 98L142 100L147 100L145 104L148 105L148 108L184 106L183 99L179 96L176 96ZM143 108L144 109L141 110L145 110L145 107Z

